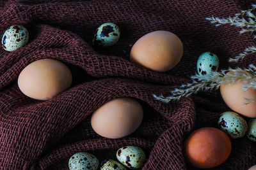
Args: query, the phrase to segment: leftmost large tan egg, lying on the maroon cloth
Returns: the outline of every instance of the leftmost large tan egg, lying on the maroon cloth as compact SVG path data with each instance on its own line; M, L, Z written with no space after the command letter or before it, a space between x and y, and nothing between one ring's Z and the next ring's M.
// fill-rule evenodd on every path
M68 89L72 74L65 64L54 59L41 59L26 66L18 78L20 91L38 100L48 100Z

